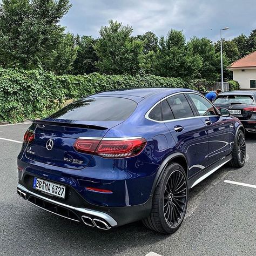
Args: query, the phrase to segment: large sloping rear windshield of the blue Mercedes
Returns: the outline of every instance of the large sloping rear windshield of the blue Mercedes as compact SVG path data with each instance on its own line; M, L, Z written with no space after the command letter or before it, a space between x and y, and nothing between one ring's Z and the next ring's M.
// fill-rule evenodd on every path
M63 107L50 117L85 121L123 121L132 114L136 106L136 102L125 98L84 98Z

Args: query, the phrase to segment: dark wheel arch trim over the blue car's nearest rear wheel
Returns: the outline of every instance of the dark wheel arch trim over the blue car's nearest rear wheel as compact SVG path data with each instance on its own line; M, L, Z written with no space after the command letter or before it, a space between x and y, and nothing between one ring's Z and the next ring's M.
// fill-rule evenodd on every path
M151 188L151 193L150 193L151 195L154 193L154 190L158 185L161 179L161 176L163 175L165 167L169 165L171 162L176 162L177 164L180 164L185 170L186 176L188 177L188 166L187 166L187 159L185 155L181 152L172 153L169 156L167 156L158 167L157 174L156 174L156 177L154 178L153 186Z

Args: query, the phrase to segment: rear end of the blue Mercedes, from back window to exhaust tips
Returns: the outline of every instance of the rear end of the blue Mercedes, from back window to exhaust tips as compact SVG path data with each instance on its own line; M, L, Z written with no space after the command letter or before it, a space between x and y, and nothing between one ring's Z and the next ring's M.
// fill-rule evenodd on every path
M142 218L151 208L150 185L138 199L129 193L140 191L142 180L153 183L156 165L136 173L147 140L108 136L142 99L89 97L34 121L18 155L17 193L46 211L105 230Z

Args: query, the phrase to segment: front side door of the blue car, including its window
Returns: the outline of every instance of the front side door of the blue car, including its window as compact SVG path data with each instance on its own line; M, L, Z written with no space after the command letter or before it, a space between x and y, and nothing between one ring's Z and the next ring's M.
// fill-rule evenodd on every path
M191 99L191 103L200 119L206 124L208 135L207 160L209 164L213 164L231 152L231 118L221 116L205 97L197 93L187 93L187 96Z

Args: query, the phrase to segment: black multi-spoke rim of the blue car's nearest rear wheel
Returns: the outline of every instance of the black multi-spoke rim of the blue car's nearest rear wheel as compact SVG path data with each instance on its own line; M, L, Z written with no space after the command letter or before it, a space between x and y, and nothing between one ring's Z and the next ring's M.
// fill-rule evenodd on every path
M187 184L180 170L173 171L164 193L164 216L167 224L175 227L183 219L187 201Z

